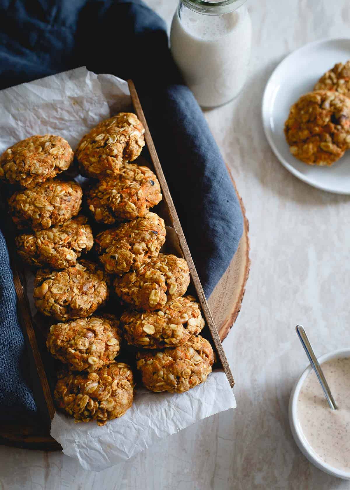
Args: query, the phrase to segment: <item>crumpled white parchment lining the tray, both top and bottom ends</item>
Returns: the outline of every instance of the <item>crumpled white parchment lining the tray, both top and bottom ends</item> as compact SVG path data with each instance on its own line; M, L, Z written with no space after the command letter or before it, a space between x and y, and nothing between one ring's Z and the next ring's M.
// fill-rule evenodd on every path
M85 67L3 90L0 153L28 136L46 133L63 136L75 149L92 126L129 109L130 104L125 80L96 75ZM153 393L137 387L132 407L103 427L95 422L75 423L56 413L51 436L83 468L101 471L202 418L235 407L226 375L216 369L205 383L186 393Z

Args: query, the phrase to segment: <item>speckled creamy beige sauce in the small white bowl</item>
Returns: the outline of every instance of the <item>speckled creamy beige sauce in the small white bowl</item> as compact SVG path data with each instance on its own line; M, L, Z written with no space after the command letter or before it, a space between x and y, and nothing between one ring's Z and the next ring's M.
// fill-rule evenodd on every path
M338 410L331 410L312 371L298 397L298 419L305 438L326 463L350 471L350 358L321 365Z

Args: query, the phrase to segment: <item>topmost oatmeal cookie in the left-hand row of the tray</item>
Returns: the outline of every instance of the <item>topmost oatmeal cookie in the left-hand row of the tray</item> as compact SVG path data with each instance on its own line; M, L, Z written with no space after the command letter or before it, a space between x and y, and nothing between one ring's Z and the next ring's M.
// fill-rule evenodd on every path
M72 148L60 136L31 136L2 153L0 178L29 189L67 170L73 158Z

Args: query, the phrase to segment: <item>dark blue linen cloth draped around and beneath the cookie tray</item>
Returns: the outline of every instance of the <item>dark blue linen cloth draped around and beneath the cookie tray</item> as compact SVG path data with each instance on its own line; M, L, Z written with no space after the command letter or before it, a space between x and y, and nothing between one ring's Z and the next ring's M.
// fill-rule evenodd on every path
M163 20L138 0L0 0L0 89L82 65L134 80L208 297L236 252L243 218ZM36 406L22 375L24 337L1 233L0 258L0 417L9 419Z

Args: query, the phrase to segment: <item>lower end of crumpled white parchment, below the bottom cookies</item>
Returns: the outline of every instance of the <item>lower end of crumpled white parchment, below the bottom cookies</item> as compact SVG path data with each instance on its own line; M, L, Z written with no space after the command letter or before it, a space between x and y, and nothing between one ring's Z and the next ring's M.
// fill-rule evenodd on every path
M154 442L185 429L197 420L235 408L236 402L224 371L216 370L186 393L150 392L136 387L132 407L123 417L103 427L96 422L75 423L56 413L51 436L63 452L81 466L101 471L147 449Z

